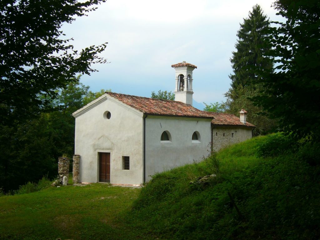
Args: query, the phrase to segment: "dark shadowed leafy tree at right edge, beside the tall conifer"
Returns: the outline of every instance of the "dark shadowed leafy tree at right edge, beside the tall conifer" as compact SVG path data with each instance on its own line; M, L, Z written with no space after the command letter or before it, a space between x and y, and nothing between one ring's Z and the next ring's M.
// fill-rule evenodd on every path
M279 118L285 132L319 141L319 1L276 0L274 8L286 19L272 28L269 55L276 61L276 71L263 74L265 91L253 100Z

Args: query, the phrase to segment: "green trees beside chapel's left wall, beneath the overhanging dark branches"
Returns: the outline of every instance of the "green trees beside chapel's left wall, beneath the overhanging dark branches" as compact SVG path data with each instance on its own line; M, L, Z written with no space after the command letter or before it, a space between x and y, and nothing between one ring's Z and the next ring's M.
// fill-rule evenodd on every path
M85 99L101 93L92 93L79 79L57 90L56 100L50 101L51 111L0 129L0 187L5 192L37 182L47 173L53 179L58 157L72 158L75 119L71 114L84 106Z

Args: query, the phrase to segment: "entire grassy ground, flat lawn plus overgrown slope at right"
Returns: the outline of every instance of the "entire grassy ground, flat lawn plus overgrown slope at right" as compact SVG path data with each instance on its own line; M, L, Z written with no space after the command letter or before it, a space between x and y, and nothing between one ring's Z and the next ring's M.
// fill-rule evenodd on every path
M2 196L0 239L319 239L318 156L318 146L276 134L156 174L141 189Z

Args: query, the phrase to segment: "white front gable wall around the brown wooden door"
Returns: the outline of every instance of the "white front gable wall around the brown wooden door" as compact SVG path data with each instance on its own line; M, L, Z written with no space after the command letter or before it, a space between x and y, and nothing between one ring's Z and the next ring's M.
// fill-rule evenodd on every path
M111 113L110 119L103 116ZM80 155L80 182L99 181L99 152L110 153L110 183L142 182L141 113L108 97L76 117L75 154ZM122 156L130 157L130 170L122 170Z

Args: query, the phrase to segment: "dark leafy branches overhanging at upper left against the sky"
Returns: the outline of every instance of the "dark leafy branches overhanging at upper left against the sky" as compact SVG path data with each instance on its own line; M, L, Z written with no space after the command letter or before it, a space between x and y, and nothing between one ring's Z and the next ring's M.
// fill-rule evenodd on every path
M0 1L0 124L32 117L76 74L106 62L98 56L106 43L77 51L60 30L105 1Z

